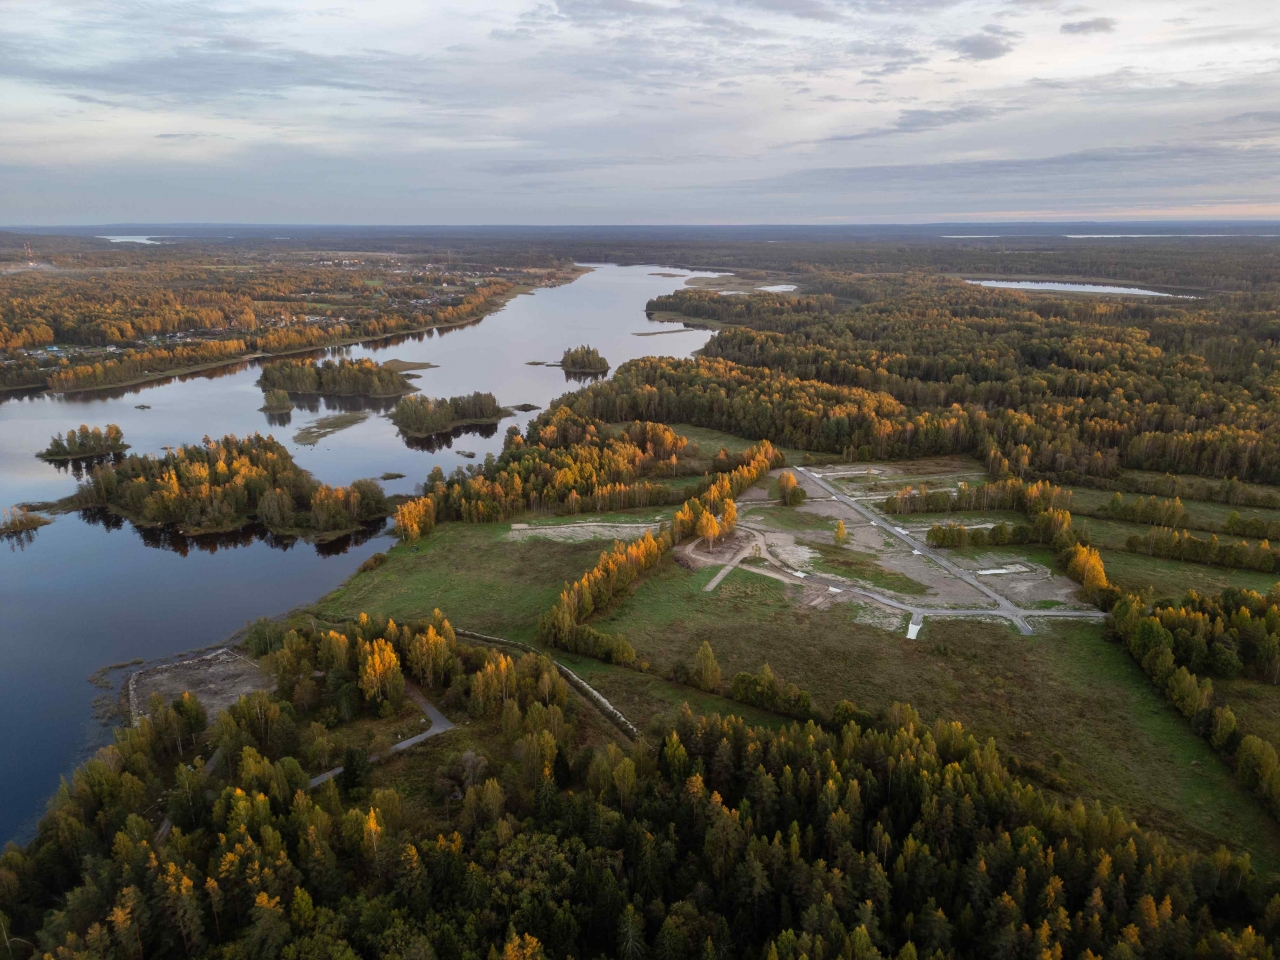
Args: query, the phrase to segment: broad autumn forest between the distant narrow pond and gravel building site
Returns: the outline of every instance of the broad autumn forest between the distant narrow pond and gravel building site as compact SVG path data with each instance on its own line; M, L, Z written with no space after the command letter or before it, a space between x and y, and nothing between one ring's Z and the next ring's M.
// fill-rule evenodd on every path
M850 460L969 452L996 475L1074 483L1123 467L1280 480L1272 296L1149 305L849 283L869 302L836 312L820 298L660 297L652 310L735 325L705 357L632 361L566 399Z

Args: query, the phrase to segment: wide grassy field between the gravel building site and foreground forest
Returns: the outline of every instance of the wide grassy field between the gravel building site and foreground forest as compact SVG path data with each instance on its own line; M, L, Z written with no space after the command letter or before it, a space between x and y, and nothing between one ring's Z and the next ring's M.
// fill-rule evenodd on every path
M654 672L692 663L708 640L726 682L768 662L823 708L844 698L869 709L902 700L927 719L959 719L1029 764L1042 785L1120 804L1202 849L1226 844L1262 868L1280 867L1280 828L1097 625L1020 637L996 623L937 621L910 641L856 622L851 604L800 607L794 588L741 570L704 593L714 573L664 562L596 626L625 635ZM639 684L623 678L612 695L622 700Z

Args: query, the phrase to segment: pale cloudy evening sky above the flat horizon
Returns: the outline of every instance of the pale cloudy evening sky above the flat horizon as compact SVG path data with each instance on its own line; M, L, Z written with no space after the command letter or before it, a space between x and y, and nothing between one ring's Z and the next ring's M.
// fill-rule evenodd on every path
M0 224L1280 219L1275 0L0 0Z

